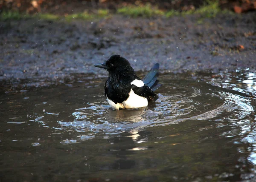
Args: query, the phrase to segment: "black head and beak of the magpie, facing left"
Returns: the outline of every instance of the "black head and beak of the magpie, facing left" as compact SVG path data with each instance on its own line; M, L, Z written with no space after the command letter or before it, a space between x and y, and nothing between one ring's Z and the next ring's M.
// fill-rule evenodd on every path
M109 73L134 73L134 70L131 67L129 61L126 60L124 57L116 54L111 56L105 63L99 63L94 66L98 68L104 68Z

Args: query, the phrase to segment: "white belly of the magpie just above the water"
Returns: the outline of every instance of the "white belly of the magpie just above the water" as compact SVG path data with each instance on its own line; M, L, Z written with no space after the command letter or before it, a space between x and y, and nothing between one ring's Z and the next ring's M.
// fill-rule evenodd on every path
M108 97L107 97L108 99ZM134 93L133 90L129 93L129 97L127 100L123 101L122 103L116 103L108 99L109 105L118 110L119 108L127 108L127 109L132 109L132 108L142 108L146 107L148 105L148 100L144 97L141 97L137 94Z

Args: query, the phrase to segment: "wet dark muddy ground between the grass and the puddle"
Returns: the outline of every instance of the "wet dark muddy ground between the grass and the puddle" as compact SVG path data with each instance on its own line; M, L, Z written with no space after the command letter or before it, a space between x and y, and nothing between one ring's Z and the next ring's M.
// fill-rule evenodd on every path
M25 89L107 75L112 54L135 71L219 73L256 68L256 13L186 17L0 22L0 87Z

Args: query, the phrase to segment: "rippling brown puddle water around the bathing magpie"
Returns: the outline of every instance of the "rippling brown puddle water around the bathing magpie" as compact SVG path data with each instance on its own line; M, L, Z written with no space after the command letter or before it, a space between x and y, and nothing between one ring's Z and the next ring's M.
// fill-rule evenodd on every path
M161 75L163 86L157 90L156 102L119 111L108 105L105 80L2 94L4 179L239 181L254 177L255 73Z

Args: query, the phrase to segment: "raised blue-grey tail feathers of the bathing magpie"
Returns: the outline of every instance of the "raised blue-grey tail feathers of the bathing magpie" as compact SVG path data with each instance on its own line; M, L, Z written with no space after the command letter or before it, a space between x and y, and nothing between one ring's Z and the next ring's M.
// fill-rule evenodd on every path
M161 84L159 84L159 80L157 80L157 77L159 75L158 70L159 70L159 64L156 63L143 79L143 82L146 85L148 85L148 87L151 88L152 91L157 90L157 88L161 86Z

